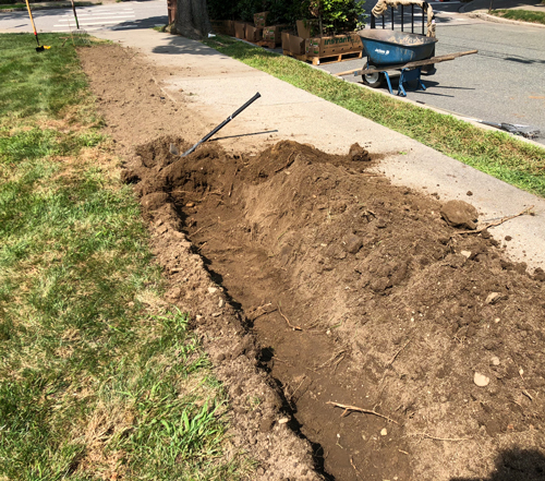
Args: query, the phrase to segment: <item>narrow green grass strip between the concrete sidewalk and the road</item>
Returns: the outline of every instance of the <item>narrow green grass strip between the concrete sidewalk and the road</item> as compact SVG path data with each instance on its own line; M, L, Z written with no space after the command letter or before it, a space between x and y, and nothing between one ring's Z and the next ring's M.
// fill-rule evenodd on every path
M204 43L520 189L545 196L545 149L343 82L290 57L218 35Z

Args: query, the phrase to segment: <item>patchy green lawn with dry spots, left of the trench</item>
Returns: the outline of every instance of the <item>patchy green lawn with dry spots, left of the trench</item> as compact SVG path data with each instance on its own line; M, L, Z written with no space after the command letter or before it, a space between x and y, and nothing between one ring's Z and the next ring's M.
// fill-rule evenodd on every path
M0 479L235 480L72 44L0 35Z

